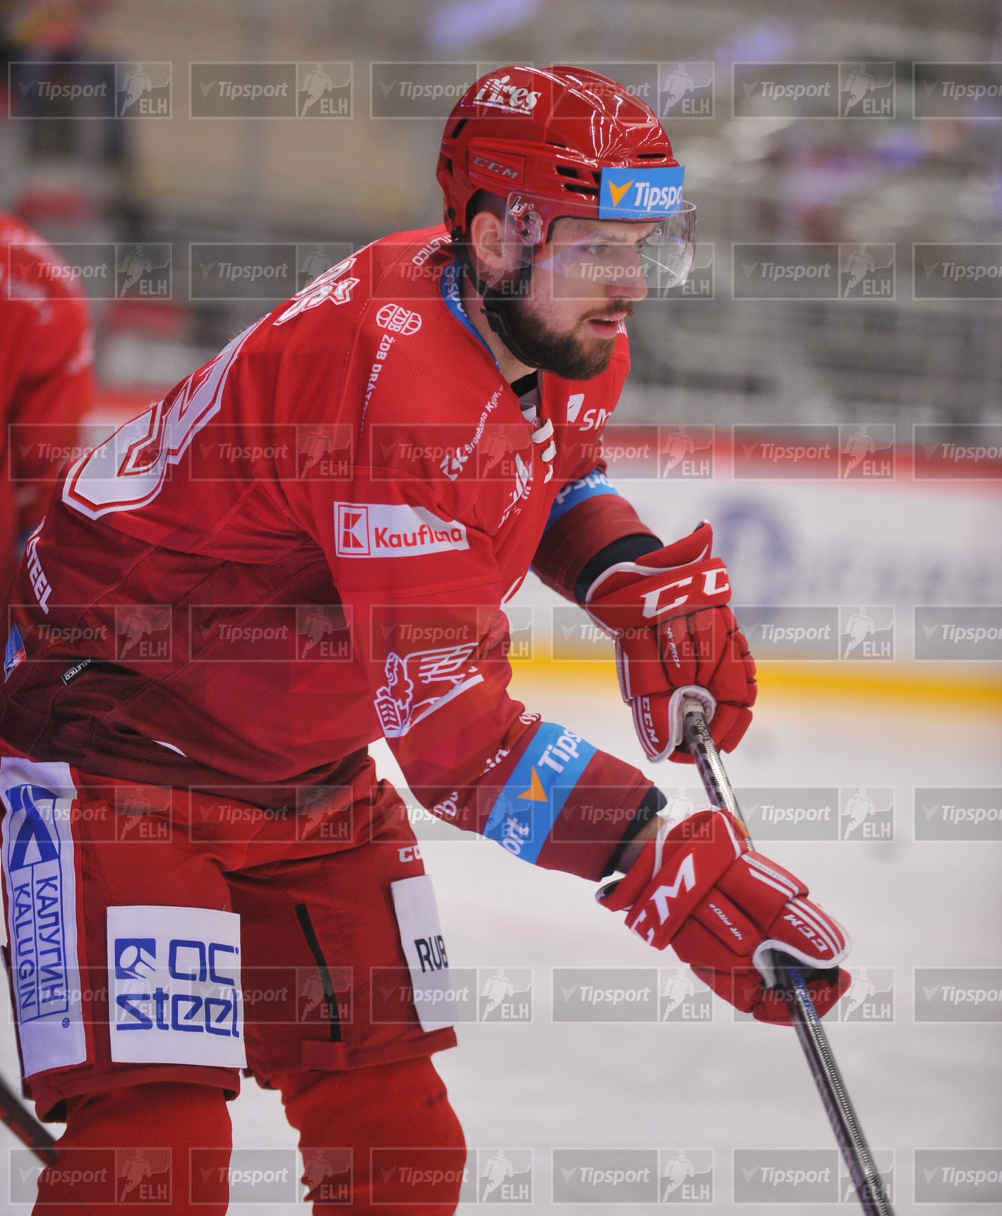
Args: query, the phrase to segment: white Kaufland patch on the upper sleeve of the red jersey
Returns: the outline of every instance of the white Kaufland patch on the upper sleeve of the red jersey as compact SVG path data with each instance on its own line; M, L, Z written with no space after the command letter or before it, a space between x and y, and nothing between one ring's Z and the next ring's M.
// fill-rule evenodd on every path
M403 502L335 502L339 557L415 557L469 548L466 525Z

